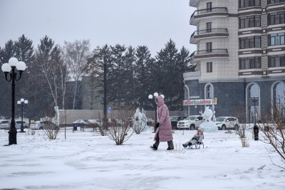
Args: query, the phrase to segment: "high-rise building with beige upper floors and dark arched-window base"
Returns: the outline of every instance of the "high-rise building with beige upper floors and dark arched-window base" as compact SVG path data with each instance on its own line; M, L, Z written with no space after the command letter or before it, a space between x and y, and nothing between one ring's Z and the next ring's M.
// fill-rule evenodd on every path
M285 1L190 0L190 6L197 8L190 18L197 71L184 73L185 100L216 98L216 117L244 107L247 122L271 105L284 112ZM185 110L196 115L204 105Z

